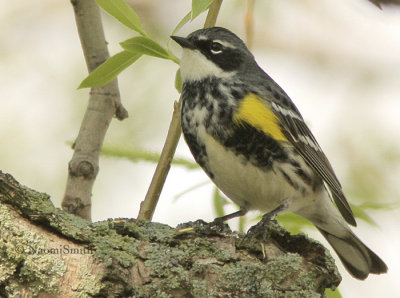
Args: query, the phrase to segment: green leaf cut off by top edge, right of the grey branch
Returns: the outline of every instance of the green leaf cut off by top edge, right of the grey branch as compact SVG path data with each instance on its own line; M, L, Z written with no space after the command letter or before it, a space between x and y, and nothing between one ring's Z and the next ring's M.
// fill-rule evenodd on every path
M107 13L132 30L147 36L136 12L125 0L95 0Z

